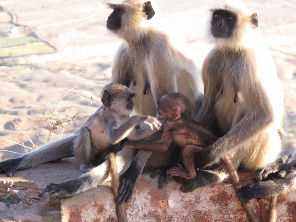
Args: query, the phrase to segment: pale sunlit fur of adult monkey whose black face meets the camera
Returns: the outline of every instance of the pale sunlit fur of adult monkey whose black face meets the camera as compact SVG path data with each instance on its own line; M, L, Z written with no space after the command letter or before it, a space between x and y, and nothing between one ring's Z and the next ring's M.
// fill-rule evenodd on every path
M252 13L242 4L239 7L225 4L212 10L235 13L238 27L232 38L214 39L215 47L204 60L204 110L214 105L221 128L228 132L217 146L230 146L225 152L233 156L236 167L256 170L276 160L281 152L283 84L268 49L250 24ZM224 70L217 66L222 63ZM235 91L239 92L237 103L233 102ZM234 138L239 142L231 142Z

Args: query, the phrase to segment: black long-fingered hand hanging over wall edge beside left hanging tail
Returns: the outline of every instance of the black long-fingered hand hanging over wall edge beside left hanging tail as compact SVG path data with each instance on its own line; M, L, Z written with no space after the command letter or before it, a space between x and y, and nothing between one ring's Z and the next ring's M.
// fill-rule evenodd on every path
M122 176L120 176L120 187L118 189L117 202L123 204L123 202L128 202L133 194L133 188L136 185L139 172L131 165Z

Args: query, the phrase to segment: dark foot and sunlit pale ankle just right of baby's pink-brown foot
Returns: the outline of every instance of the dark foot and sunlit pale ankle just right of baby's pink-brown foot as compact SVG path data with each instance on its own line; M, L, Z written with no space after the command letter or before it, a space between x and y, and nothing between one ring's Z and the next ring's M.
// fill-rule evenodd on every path
M219 170L197 170L195 178L189 179L186 184L181 186L180 190L184 193L188 193L197 187L219 184L226 181L228 176L228 173Z

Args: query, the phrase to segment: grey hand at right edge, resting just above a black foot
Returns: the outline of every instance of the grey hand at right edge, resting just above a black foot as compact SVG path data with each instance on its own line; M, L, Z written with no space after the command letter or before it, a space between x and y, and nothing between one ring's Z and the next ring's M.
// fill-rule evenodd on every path
M272 173L276 173L279 177L284 177L291 172L292 168L293 164L290 163L269 163L257 170L256 179L260 181Z

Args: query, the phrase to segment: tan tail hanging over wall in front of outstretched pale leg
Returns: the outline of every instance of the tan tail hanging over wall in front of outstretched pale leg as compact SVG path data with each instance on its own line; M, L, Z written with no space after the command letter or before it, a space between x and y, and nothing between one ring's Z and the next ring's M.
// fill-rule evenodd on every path
M111 187L112 187L112 191L113 191L115 202L116 202L116 199L119 196L118 189L119 189L120 182L119 182L119 175L117 171L115 154L110 153L109 159L110 159ZM128 222L125 204L120 205L119 203L116 202L116 213L117 213L118 222Z

